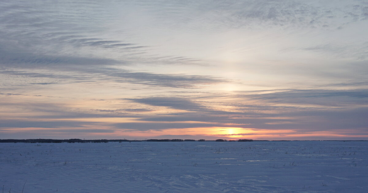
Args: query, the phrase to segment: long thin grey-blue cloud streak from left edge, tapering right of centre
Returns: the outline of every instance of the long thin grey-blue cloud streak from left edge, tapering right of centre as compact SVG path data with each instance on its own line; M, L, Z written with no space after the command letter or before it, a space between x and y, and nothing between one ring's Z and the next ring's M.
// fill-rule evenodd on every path
M33 78L63 79L63 81L69 79L70 81L82 80L82 81L95 81L95 82L99 81L101 82L110 81L120 83L129 82L133 84L140 84L151 87L171 87L171 88L198 88L199 86L208 86L213 84L230 82L229 79L207 75L155 74L155 73L127 71L117 68L99 68L98 66L94 68L89 67L87 69L85 68L64 69L64 72L68 71L69 71L68 74L70 75L65 75L67 73L60 74L60 71L56 74L56 72L54 71L50 71L50 73L33 73L27 71L11 71L11 70L0 71L0 74L17 75ZM96 77L95 74L99 74L100 76Z

